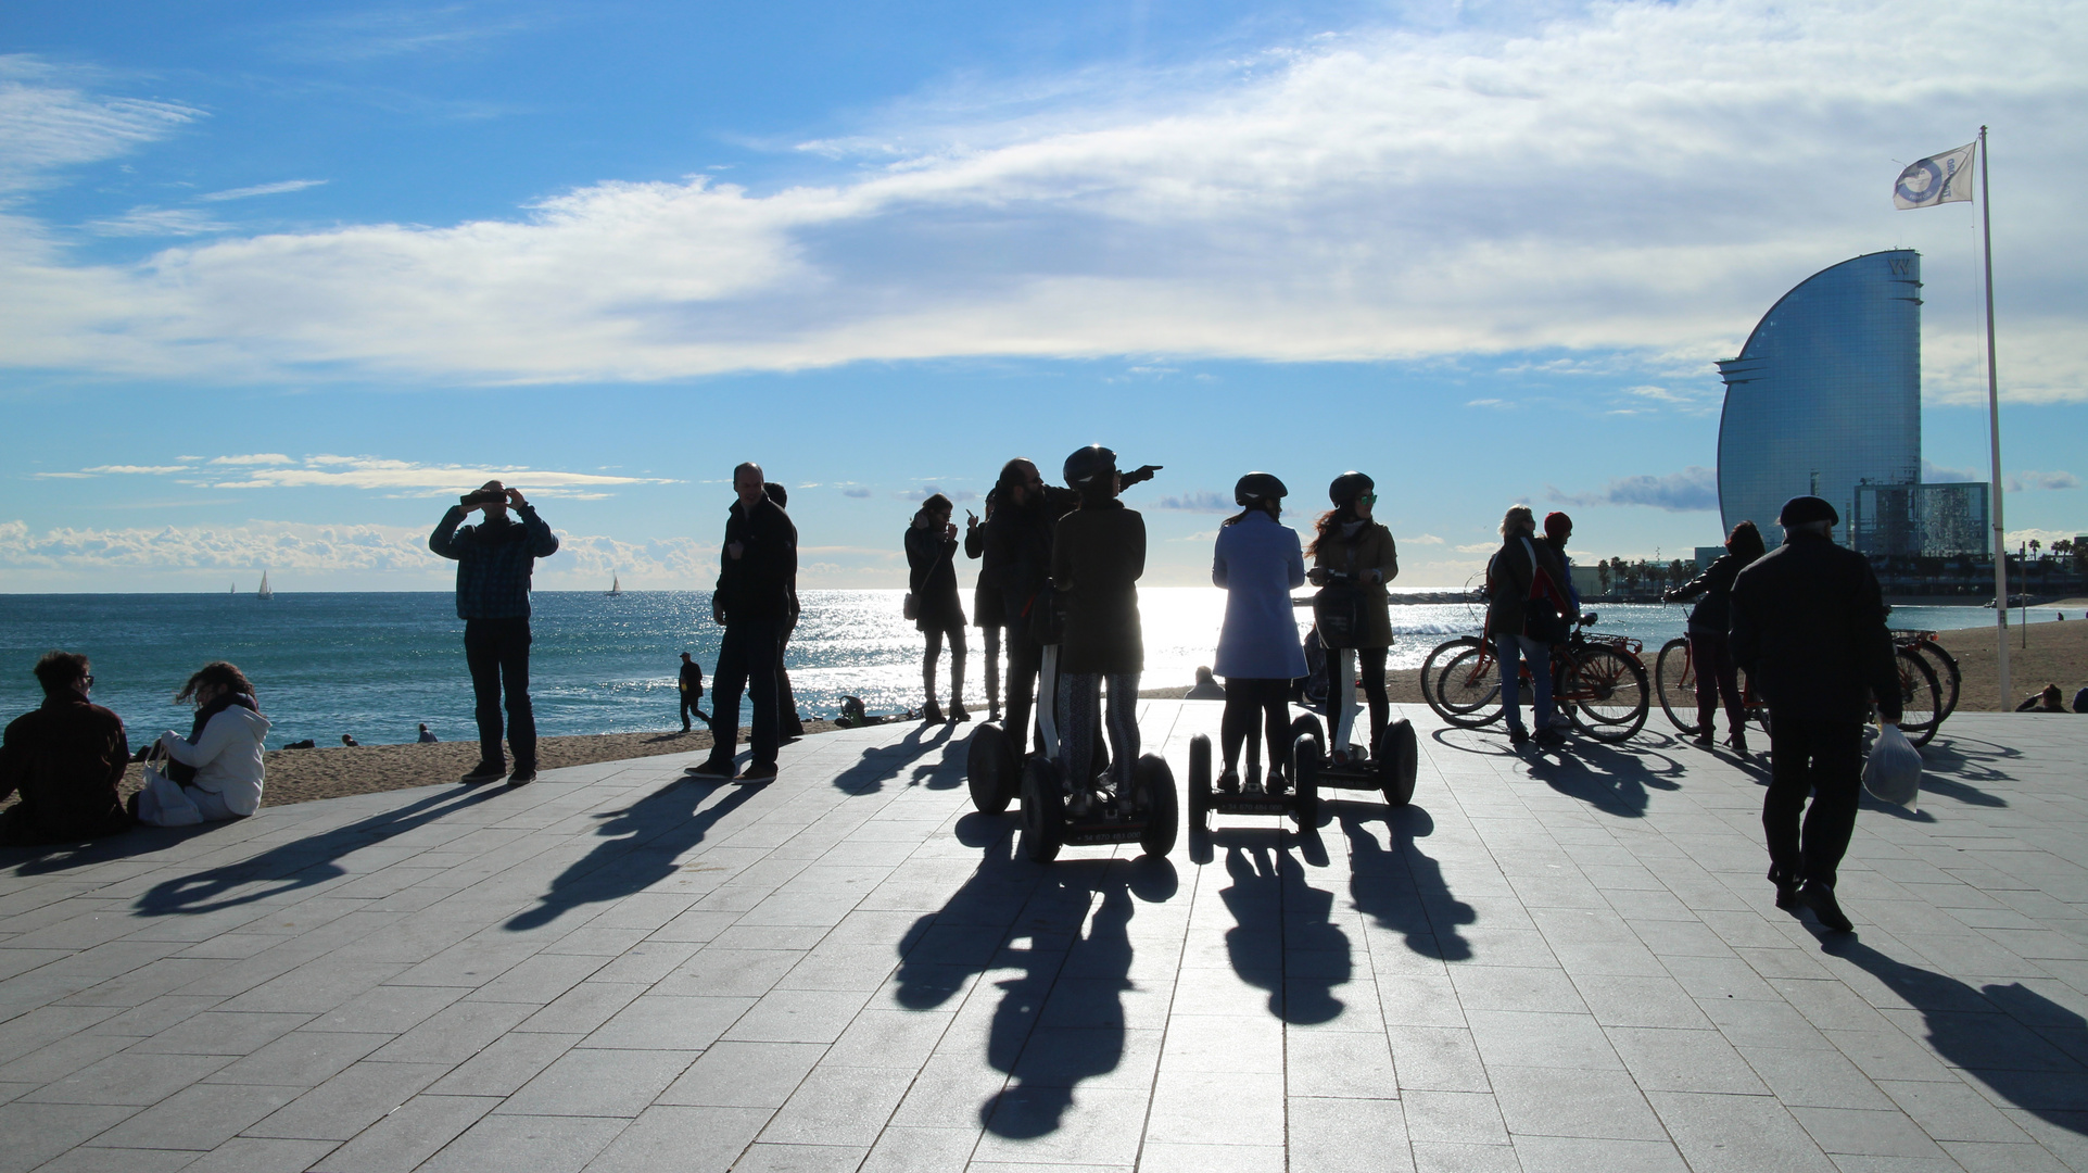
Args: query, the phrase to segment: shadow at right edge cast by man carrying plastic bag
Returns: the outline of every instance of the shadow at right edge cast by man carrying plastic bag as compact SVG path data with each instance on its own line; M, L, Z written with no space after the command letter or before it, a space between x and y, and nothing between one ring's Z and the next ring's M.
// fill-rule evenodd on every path
M1996 1096L2088 1135L2088 1019L2011 981L1973 989L1835 935L1821 952L1848 960L1921 1010L1929 1046Z

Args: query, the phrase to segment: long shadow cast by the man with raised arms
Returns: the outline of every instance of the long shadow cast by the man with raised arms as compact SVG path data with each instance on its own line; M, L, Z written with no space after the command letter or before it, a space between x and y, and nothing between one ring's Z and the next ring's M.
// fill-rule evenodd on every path
M255 900L267 900L301 887L326 883L349 875L347 868L334 864L334 860L370 847L372 843L382 843L393 835L426 827L445 814L478 806L505 793L507 787L480 787L466 791L464 795L457 791L441 791L401 806L399 810L372 814L370 818L349 822L347 827L334 827L332 831L322 831L294 843L269 847L267 852L261 852L251 860L240 860L238 864L223 864L194 875L161 881L138 897L136 910L140 916L215 912L219 908L253 904ZM269 887L238 891L255 883L269 883ZM234 895L234 891L238 891L238 895Z

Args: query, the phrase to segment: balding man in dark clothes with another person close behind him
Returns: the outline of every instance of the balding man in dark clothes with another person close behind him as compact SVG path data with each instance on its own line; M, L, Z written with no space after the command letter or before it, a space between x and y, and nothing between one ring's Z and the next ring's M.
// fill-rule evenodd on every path
M725 549L718 553L718 589L710 614L725 624L718 666L710 676L710 758L689 772L699 779L731 779L733 747L739 741L739 695L754 701L750 720L752 760L741 783L777 776L777 655L793 616L798 582L798 526L764 486L762 468L733 470L733 503L725 520Z

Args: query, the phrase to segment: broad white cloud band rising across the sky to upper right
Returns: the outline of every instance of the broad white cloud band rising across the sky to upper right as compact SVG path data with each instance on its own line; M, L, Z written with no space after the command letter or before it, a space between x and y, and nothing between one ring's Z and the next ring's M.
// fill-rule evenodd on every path
M445 15L374 44L468 33ZM142 267L75 265L17 219L0 361L555 382L1622 349L1706 374L1819 267L1900 238L1961 248L1963 209L1885 207L1892 159L1990 117L2015 184L2007 394L2088 399L2080 6L1627 2L1518 33L1366 29L1157 100L875 127L818 144L858 171L777 192L608 182L516 219L226 238ZM1946 269L1923 353L1954 403L1984 369L1969 311L1940 309L1971 298Z

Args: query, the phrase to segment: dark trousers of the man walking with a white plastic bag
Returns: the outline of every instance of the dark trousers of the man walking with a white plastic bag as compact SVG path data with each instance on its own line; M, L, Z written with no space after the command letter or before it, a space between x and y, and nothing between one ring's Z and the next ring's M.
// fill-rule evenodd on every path
M1769 862L1783 875L1833 887L1835 868L1856 833L1862 791L1862 722L1769 714L1769 793L1762 831ZM1812 806L1806 808L1806 795ZM1798 812L1804 810L1804 829Z

